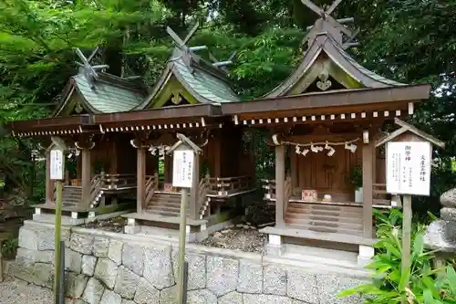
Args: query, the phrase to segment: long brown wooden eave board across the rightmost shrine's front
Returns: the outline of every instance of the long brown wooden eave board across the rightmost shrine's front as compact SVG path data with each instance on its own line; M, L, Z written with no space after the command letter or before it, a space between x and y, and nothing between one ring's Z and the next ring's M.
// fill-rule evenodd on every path
M336 110L390 102L418 102L430 97L430 85L408 85L378 89L340 89L301 95L223 103L224 115L254 114L286 110ZM388 105L386 105L388 106Z

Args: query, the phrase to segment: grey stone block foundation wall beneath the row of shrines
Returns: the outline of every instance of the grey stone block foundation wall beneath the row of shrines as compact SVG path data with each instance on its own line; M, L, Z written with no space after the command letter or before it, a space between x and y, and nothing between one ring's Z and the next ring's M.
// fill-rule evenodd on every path
M67 295L76 303L171 304L177 294L178 244L151 236L64 227ZM19 234L16 278L52 288L54 229L28 221ZM296 263L281 257L187 245L188 304L336 304L339 291L366 273Z

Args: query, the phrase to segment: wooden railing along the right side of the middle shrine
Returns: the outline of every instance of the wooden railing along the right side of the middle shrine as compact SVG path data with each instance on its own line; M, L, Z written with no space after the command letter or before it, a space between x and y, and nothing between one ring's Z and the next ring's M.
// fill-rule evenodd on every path
M208 194L219 197L228 197L254 190L254 178L252 176L211 177L209 183Z

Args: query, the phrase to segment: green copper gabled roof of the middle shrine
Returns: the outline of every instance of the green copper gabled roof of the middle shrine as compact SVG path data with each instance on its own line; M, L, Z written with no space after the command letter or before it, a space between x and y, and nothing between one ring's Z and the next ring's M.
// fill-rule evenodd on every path
M198 55L176 47L161 78L138 110L148 107L171 79L177 79L198 103L224 103L240 100L221 68L213 67Z

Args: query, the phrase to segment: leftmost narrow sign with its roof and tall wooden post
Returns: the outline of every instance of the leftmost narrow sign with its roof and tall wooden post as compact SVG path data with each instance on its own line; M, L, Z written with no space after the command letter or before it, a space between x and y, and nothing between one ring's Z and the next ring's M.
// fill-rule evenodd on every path
M62 248L61 240L61 230L62 230L62 190L63 190L63 180L65 179L65 154L64 151L67 150L65 142L57 137L52 137L52 148L50 151L50 179L56 181L56 222L55 222L55 276L54 276L54 299L56 304L62 304L61 294L62 290L62 269L65 268L65 265L62 265L61 255Z

